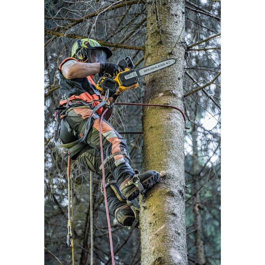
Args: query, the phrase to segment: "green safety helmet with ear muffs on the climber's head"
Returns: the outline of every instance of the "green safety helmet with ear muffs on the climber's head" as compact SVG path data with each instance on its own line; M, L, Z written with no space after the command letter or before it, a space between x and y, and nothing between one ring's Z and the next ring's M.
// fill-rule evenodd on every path
M106 52L106 58L108 59L112 55L112 51L109 47L101 46L96 40L92 38L78 38L72 45L71 57L76 58L79 61L91 62L91 50L102 49Z

